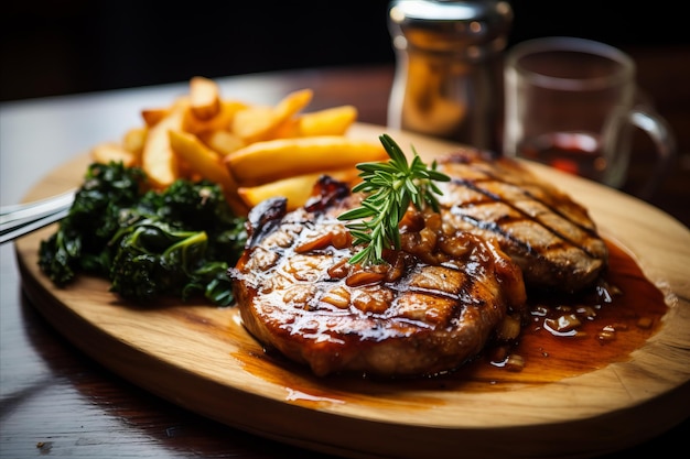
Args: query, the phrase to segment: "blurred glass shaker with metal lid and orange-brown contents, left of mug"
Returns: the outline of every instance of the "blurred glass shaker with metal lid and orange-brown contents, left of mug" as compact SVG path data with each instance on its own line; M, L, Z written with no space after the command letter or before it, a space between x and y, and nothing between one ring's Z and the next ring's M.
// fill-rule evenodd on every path
M507 1L393 0L388 127L499 152Z

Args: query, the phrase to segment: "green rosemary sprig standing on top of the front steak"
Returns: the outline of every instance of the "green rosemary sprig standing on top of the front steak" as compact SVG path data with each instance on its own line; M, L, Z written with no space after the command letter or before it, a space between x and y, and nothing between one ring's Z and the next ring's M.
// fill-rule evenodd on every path
M441 195L442 192L434 181L450 181L448 175L436 171L435 161L431 167L427 166L414 146L414 156L408 163L405 153L390 135L382 134L379 140L390 160L357 164L363 182L353 188L353 193L364 192L368 196L362 201L362 207L338 216L339 220L362 220L346 225L354 237L353 244L366 244L349 260L352 264L385 263L385 249L400 249L399 223L410 203L419 210L431 206L438 212L439 201L434 194Z

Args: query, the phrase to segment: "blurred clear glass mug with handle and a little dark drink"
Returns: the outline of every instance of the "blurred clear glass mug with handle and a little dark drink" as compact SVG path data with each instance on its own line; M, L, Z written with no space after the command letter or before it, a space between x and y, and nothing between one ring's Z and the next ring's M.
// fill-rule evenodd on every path
M535 39L509 50L504 81L504 155L618 188L636 127L658 155L638 196L654 194L676 154L675 139L666 120L639 100L627 54L584 39Z

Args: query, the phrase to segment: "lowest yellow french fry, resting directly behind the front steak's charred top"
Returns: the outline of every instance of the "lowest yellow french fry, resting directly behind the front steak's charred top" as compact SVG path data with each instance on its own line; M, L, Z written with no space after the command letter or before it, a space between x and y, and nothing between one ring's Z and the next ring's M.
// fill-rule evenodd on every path
M287 208L290 211L306 203L319 177L326 174L338 181L349 181L356 175L356 170L295 175L293 177L269 182L265 185L240 186L237 193L248 208L256 206L265 199L283 196L288 198Z

